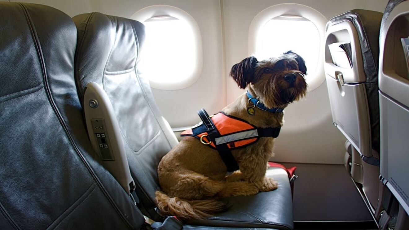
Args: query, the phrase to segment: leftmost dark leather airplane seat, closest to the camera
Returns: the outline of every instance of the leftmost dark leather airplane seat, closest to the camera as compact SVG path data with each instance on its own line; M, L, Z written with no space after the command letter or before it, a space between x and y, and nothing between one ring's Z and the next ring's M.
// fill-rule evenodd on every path
M140 228L84 129L72 19L16 2L0 15L0 229Z

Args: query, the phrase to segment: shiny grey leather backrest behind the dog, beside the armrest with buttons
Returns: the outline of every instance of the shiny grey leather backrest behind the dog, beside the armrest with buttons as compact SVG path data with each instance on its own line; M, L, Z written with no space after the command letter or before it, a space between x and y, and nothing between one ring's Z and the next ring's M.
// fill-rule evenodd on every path
M79 34L75 77L80 98L90 82L105 90L119 123L141 210L157 220L157 165L177 139L153 100L148 80L137 71L144 25L101 13L82 14L73 20Z

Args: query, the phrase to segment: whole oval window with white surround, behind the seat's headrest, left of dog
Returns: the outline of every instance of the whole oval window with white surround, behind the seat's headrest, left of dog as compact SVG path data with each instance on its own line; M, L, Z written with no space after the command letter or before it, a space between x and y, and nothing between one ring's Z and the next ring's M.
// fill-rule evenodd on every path
M145 25L138 71L149 79L151 87L176 90L195 83L202 68L196 21L185 11L164 5L146 7L131 18Z

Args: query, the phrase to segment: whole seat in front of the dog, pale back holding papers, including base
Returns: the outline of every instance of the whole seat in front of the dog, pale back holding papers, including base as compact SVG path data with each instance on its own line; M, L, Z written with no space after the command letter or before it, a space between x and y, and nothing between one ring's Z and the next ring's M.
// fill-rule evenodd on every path
M333 124L352 144L351 176L372 214L378 203L380 183L381 19L382 13L376 11L348 11L328 21L325 38L324 71Z

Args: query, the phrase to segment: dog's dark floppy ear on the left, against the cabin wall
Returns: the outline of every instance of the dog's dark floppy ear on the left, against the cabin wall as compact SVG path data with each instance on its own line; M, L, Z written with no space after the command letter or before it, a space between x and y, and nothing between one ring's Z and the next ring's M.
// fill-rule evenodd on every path
M257 58L250 56L231 67L230 76L236 81L238 87L245 89L246 85L252 82L257 63Z

